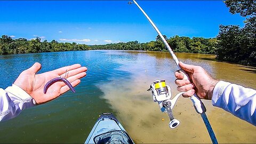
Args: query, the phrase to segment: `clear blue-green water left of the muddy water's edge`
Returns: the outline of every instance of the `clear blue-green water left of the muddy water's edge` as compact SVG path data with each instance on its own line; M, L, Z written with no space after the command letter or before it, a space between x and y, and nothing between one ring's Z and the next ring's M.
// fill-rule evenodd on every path
M0 123L0 142L50 142L81 143L85 141L95 120L110 109L102 99L102 91L97 87L110 81L111 77L129 77L126 71L118 70L115 63L119 55L102 51L70 51L0 56L0 85L10 86L21 71L35 62L42 64L39 73L79 63L86 66L87 76L75 87L76 93L67 92L59 99L45 105L22 111L18 117Z

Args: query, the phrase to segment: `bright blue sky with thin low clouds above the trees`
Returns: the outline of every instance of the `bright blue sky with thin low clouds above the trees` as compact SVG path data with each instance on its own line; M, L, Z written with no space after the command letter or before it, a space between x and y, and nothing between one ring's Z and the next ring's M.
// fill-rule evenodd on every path
M107 44L154 41L157 33L129 1L0 1L0 35ZM219 25L244 26L222 1L137 1L163 35L216 37Z

